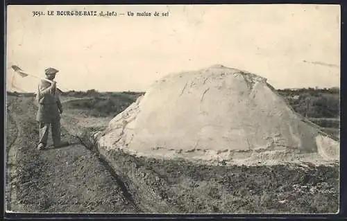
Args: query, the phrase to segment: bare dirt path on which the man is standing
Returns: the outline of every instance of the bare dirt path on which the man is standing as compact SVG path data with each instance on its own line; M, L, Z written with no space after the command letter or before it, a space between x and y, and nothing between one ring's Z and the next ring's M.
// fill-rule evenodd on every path
M72 145L39 151L31 98L8 102L8 207L15 212L137 213L124 184L97 156L62 130Z

